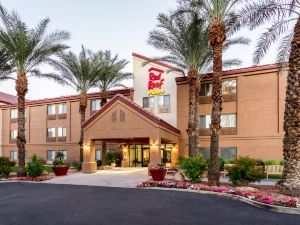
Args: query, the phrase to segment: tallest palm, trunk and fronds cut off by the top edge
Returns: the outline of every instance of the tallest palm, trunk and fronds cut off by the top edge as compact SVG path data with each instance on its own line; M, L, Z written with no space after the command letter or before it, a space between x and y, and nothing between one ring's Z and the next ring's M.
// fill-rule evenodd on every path
M220 185L220 171L218 166L219 135L221 129L222 112L222 71L223 45L228 34L238 27L233 26L236 20L234 7L241 0L180 0L183 11L199 13L208 23L208 44L213 49L213 90L212 90L212 118L210 125L210 166L208 184ZM185 9L184 9L185 8ZM186 10L187 9L187 10ZM179 9L181 11L181 9Z

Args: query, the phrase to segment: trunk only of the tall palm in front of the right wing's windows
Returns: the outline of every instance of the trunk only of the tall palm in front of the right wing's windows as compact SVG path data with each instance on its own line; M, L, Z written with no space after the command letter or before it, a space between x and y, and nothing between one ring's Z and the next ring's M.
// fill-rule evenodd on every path
M209 42L213 47L213 92L212 92L212 117L210 139L210 165L208 170L208 184L220 185L219 135L221 129L222 112L222 50L225 41L225 25L218 20L213 21L209 28Z

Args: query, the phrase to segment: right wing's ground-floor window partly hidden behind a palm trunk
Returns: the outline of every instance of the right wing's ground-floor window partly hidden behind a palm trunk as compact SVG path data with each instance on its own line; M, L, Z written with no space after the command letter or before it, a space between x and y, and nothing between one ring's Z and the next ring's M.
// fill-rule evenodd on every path
M210 157L210 148L202 147L198 148L198 154L203 159L208 160ZM225 161L232 161L237 158L237 148L236 147L221 147L220 157Z

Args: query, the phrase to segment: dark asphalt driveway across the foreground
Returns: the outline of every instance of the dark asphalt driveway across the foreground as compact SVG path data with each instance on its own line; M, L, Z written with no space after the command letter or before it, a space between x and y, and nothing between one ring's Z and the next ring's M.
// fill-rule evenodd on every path
M0 183L0 225L292 225L300 216L211 195Z

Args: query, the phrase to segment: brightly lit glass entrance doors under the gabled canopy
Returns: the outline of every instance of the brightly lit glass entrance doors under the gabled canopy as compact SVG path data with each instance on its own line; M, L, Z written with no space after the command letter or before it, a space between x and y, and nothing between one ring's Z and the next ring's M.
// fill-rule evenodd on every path
M129 167L147 167L149 162L149 145L129 145Z

